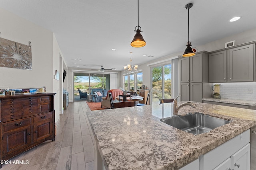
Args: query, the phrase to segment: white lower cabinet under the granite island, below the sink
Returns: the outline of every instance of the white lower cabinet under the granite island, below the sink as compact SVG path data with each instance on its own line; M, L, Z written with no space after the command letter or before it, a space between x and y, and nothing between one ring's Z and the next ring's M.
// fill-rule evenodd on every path
M200 156L200 170L250 170L250 129Z

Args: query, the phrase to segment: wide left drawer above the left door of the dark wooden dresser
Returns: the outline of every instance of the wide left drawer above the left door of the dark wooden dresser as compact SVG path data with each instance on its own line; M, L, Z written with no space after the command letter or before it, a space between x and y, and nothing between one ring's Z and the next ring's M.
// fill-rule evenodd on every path
M31 125L31 118L20 119L20 120L16 120L16 121L12 121L12 122L2 124L4 132L10 131L10 130L15 130L15 129L18 129L20 127L26 127L26 126L29 126L29 125Z

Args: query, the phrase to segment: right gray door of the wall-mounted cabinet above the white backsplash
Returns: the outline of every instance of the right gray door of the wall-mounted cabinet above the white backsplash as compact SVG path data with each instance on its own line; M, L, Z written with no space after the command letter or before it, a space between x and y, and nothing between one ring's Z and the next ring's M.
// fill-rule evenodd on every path
M229 50L229 81L253 81L253 45Z

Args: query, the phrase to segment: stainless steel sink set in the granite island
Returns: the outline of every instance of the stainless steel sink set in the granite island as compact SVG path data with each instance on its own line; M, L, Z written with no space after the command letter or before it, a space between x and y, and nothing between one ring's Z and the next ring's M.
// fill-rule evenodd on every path
M180 117L170 117L169 119L160 119L160 121L195 135L211 131L214 128L230 123L228 120L198 113Z

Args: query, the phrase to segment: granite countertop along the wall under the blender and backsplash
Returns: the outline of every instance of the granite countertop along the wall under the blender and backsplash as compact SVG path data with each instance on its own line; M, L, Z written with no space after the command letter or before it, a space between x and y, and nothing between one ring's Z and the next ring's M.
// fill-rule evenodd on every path
M229 104L240 104L246 106L256 106L256 101L252 100L237 100L237 99L224 99L224 98L203 98L203 101L209 102L220 102L220 103L229 103Z

